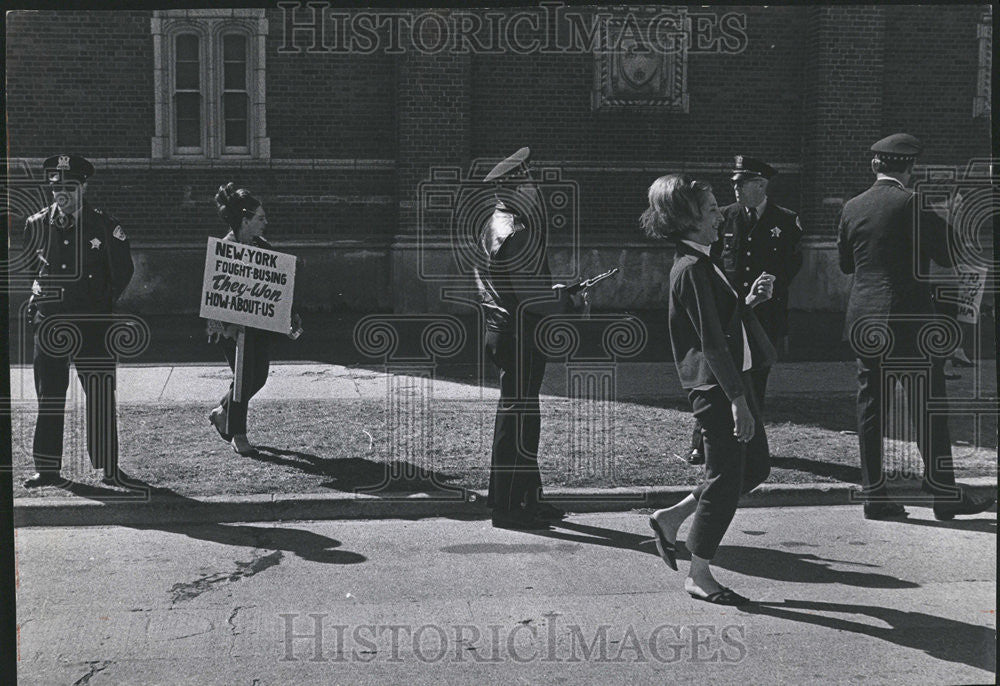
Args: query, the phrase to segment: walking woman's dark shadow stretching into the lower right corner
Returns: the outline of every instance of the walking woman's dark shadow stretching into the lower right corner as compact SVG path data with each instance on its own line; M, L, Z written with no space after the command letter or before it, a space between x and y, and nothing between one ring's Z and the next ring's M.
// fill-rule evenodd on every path
M920 650L938 660L961 663L990 672L996 670L996 633L986 626L967 624L924 612L805 600L754 603L742 609L747 614L766 615L871 636L904 648ZM802 611L792 612L793 609ZM864 615L889 626L876 626L816 614L819 612Z

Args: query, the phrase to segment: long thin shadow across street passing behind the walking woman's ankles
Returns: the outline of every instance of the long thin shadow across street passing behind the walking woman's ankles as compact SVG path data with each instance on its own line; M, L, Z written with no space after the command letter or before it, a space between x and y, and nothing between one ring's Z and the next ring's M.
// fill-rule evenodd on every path
M562 541L588 543L624 550L637 550L659 557L651 536L599 526L558 522L556 528L537 531L539 536ZM564 530L568 530L564 531ZM652 532L651 532L652 534ZM691 554L683 544L677 546L677 559L690 560ZM859 569L841 571L832 564L853 565ZM774 581L812 582L818 584L845 584L861 588L919 588L919 584L898 579L887 574L864 569L877 569L877 565L820 557L812 553L796 553L775 548L720 545L712 564L731 572L757 576Z

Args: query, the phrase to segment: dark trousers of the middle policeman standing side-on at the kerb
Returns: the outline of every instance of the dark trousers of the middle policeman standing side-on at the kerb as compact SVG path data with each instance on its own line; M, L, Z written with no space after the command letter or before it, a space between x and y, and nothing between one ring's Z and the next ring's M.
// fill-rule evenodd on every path
M538 393L545 375L545 356L524 343L522 337L495 331L486 332L486 354L500 372L486 504L506 512L522 504L530 506L541 498L538 438L542 415Z

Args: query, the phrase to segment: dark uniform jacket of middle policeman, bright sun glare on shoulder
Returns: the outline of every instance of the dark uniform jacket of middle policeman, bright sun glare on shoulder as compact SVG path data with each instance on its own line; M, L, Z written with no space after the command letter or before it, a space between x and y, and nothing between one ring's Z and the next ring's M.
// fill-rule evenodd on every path
M534 323L524 312L522 295L551 289L552 272L543 232L526 226L514 212L499 203L479 235L479 261L475 267L479 303L489 331L516 332L516 317Z

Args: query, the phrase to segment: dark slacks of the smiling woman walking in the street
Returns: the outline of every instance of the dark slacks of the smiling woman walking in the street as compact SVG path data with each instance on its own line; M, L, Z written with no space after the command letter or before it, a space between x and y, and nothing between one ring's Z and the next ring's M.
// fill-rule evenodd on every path
M743 379L753 384L748 372ZM691 391L688 398L703 429L705 481L692 491L698 507L685 545L692 554L710 560L736 514L740 495L753 490L770 474L771 455L756 394L750 393L747 398L756 422L753 439L745 445L733 435L732 403L720 387Z

